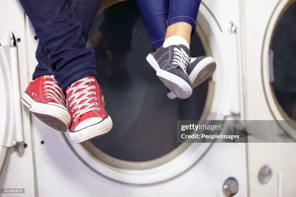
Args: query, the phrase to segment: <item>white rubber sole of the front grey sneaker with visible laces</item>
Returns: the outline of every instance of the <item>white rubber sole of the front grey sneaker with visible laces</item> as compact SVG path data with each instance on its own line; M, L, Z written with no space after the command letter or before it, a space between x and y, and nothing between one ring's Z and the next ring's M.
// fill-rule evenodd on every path
M157 77L172 91L178 98L187 99L192 94L191 86L181 77L160 69L156 59L152 54L146 57L147 62L156 70Z

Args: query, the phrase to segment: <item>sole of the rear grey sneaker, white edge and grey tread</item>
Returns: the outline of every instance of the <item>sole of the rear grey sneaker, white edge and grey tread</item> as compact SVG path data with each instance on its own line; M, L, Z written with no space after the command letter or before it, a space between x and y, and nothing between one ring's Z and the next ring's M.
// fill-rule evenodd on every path
M206 57L194 67L190 75L188 76L192 83L192 88L200 85L213 75L216 70L216 61L213 57Z

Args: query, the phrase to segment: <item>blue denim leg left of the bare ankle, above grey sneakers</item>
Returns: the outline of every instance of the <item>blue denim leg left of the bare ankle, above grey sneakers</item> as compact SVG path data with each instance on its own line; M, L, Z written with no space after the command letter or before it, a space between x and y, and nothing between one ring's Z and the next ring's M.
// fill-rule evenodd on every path
M163 45L170 0L136 0L153 49Z

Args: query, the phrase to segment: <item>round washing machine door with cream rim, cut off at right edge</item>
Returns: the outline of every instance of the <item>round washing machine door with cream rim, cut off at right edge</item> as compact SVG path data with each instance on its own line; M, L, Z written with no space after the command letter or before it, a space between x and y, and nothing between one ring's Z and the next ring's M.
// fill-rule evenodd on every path
M277 5L266 29L262 75L268 105L275 120L296 139L296 2Z

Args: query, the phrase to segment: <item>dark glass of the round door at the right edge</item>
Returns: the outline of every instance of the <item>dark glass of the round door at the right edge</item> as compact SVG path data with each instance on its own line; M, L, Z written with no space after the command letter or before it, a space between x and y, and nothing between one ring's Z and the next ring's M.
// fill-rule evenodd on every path
M296 2L283 13L271 41L275 97L285 114L296 120Z

